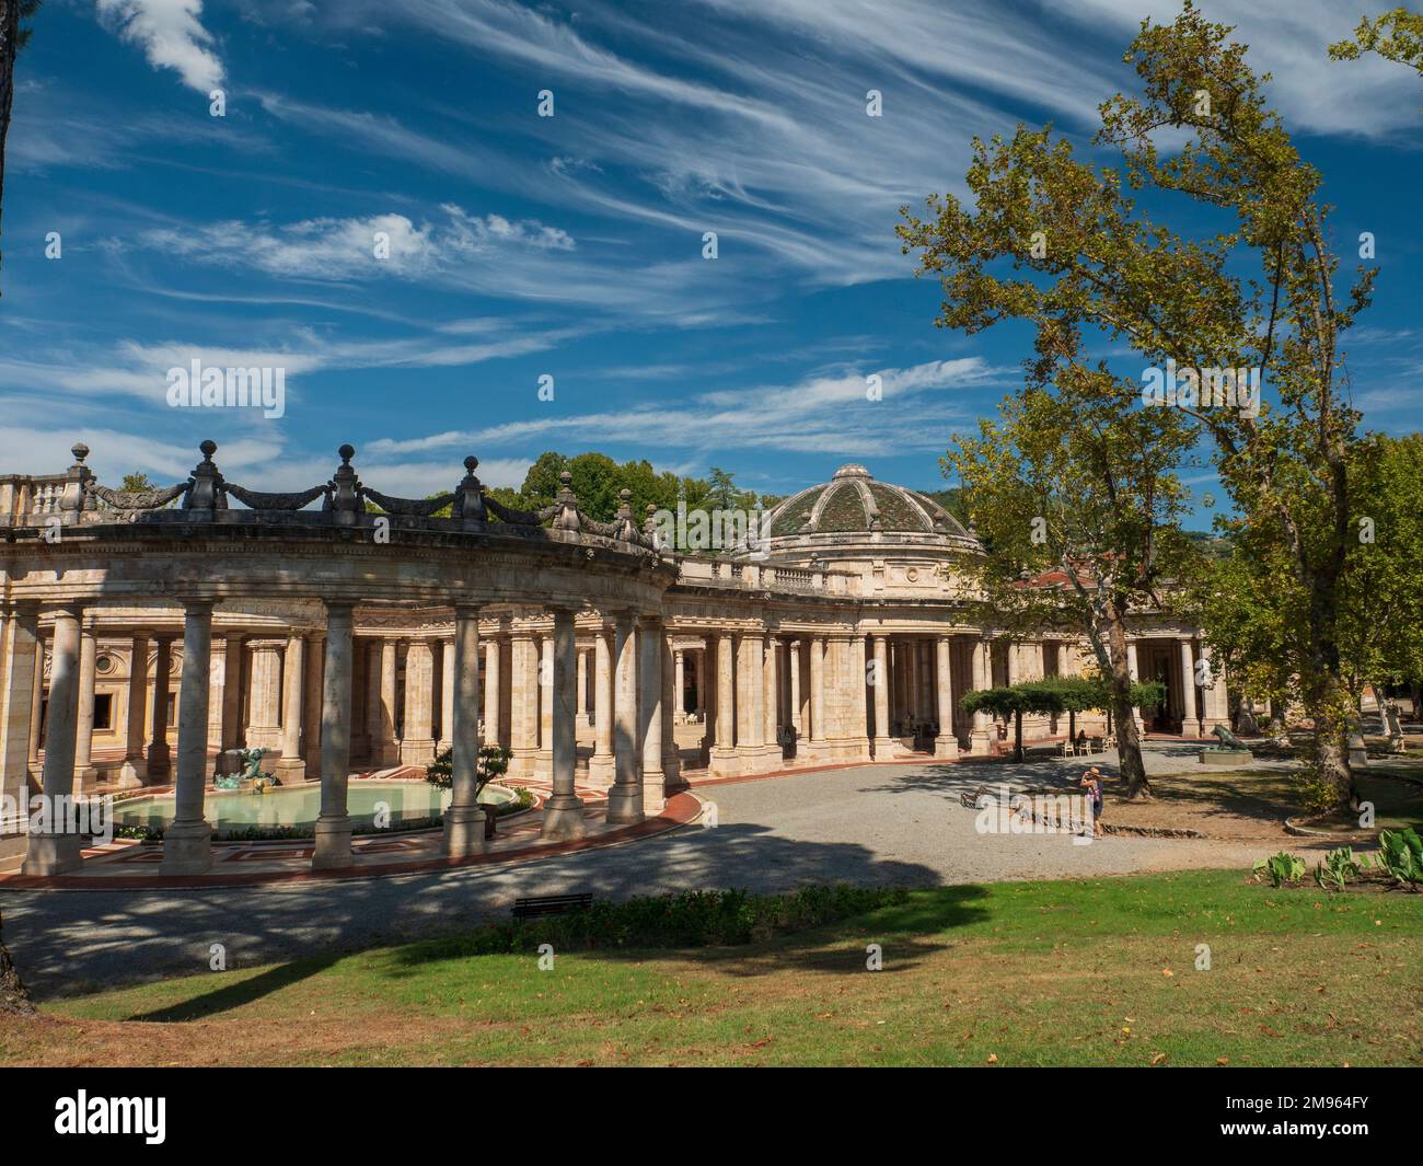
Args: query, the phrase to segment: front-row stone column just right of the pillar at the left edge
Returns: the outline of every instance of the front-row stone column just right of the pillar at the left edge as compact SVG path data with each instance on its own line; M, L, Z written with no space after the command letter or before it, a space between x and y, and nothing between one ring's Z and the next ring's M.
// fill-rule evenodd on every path
M54 663L50 666L48 730L44 739L44 829L31 830L24 854L24 874L64 874L84 864L78 831L70 831L74 793L74 736L80 696L80 604L54 615Z

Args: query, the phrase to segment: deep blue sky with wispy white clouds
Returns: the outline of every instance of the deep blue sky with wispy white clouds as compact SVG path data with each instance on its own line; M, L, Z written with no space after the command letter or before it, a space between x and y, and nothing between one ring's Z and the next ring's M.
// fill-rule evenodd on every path
M1350 262L1375 232L1356 401L1370 427L1414 429L1423 87L1326 58L1360 14L1348 0L1201 7L1275 73ZM962 192L973 134L1052 120L1086 144L1133 81L1136 23L1174 13L47 0L7 155L0 473L53 473L83 438L101 478L166 483L212 437L259 488L324 480L342 441L401 494L451 487L468 453L517 485L548 448L716 464L771 493L851 460L938 488L953 431L1019 383L1026 337L935 329L896 209ZM171 409L165 373L195 357L285 367L286 414Z

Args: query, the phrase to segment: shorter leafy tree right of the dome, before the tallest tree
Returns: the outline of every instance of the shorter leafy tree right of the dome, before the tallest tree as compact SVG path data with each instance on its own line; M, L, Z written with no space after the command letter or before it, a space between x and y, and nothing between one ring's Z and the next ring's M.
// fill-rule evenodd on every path
M1128 797L1151 793L1131 716L1128 615L1170 606L1168 584L1200 557L1181 530L1192 426L1175 410L1136 409L1136 389L1077 362L1059 335L1029 364L1029 384L999 420L979 423L943 458L956 473L988 555L956 567L979 591L980 615L1017 632L1087 639L1117 722Z

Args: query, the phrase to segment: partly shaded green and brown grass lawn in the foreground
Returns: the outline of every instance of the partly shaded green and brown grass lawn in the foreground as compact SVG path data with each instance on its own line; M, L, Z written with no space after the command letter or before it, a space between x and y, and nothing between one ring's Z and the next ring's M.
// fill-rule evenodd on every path
M171 979L9 1021L0 1061L1417 1065L1420 958L1420 895L1234 871L1005 883L743 947L566 952L552 971L430 941Z

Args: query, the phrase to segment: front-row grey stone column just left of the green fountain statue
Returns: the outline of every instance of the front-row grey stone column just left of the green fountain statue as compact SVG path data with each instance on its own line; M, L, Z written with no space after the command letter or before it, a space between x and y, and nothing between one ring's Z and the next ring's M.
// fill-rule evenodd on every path
M159 874L202 874L212 867L212 827L203 817L208 787L208 698L212 679L212 602L184 604L182 685L178 689L178 776L174 820L164 830Z

